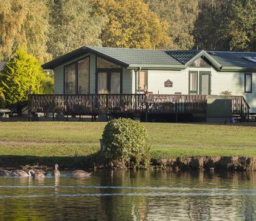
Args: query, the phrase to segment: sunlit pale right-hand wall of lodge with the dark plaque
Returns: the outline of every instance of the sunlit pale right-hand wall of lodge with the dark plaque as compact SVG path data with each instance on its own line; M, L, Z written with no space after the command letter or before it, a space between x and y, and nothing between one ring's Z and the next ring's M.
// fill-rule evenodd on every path
M256 73L252 73L252 93L244 93L244 72L220 72L214 68L186 68L181 71L148 71L148 91L153 94L189 94L189 71L211 71L211 94L220 95L222 91L229 90L232 95L243 96L250 105L250 112L256 113ZM164 82L170 79L173 87L164 87Z

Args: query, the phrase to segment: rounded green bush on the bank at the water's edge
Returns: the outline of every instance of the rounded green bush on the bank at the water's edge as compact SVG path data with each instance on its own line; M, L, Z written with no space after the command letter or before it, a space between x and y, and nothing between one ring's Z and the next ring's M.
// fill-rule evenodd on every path
M147 132L136 120L114 119L103 131L106 160L115 167L148 167L151 151L147 146Z

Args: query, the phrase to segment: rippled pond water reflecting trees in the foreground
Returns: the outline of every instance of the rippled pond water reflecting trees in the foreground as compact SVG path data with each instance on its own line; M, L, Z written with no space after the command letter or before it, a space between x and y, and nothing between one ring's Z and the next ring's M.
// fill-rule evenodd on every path
M256 220L256 173L0 177L0 220Z

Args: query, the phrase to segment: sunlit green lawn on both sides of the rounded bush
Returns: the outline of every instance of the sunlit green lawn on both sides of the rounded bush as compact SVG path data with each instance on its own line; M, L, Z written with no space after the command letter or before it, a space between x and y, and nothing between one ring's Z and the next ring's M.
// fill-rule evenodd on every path
M148 131L148 143L153 149L154 159L256 156L256 123L147 123L144 126ZM99 150L104 127L105 123L101 122L1 122L0 155L23 156L24 160L38 162L49 157L63 161L69 159L71 162L74 159L87 159Z

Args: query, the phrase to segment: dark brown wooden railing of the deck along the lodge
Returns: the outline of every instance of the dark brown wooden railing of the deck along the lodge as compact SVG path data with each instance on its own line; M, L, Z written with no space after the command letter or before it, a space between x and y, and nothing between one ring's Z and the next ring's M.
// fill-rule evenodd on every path
M29 113L54 113L59 108L65 115L206 114L206 98L182 94L30 94ZM244 97L231 98L232 112L245 120L249 105Z

